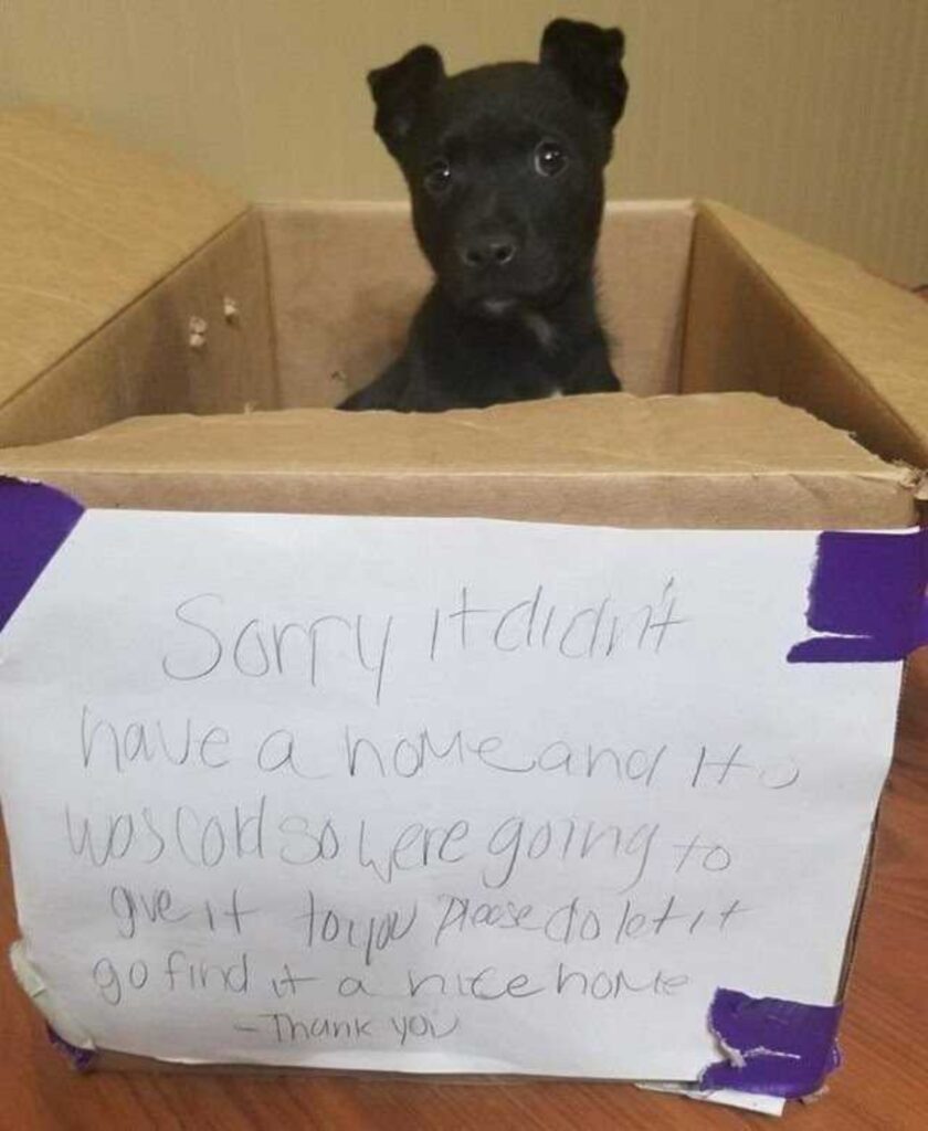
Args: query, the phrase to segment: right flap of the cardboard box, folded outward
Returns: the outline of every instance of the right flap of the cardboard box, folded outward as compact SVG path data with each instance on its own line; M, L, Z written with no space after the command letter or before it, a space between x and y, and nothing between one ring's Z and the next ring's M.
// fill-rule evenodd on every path
M727 205L707 201L701 211L805 318L808 334L833 352L856 387L851 397L834 386L833 405L824 389L808 390L802 403L852 428L873 450L928 467L928 307L859 264ZM851 399L860 405L859 420L848 412Z

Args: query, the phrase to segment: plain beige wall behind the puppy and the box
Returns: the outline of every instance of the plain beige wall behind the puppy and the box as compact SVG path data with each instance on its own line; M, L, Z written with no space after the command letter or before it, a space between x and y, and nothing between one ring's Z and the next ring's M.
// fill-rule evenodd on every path
M0 0L0 100L72 107L260 199L389 198L367 69L620 24L613 197L712 196L928 282L928 0Z

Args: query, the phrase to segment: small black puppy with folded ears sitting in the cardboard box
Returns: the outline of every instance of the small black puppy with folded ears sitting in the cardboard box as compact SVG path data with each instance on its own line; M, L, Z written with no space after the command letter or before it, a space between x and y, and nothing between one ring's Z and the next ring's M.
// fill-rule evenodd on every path
M618 28L556 19L539 63L445 76L419 46L368 76L436 283L347 409L441 412L611 391L593 258L628 83Z

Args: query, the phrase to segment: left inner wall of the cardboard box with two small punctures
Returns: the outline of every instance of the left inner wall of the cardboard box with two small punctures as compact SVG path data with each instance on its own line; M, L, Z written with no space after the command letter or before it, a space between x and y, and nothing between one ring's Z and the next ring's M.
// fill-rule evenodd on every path
M247 213L0 407L0 446L42 443L144 413L277 403L263 236ZM234 300L229 320L223 300ZM191 349L190 319L207 323Z

